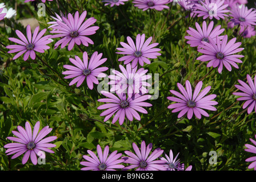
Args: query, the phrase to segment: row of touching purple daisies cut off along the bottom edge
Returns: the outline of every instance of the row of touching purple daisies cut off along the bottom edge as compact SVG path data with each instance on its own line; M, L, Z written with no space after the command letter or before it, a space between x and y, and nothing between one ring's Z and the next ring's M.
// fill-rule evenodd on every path
M181 164L180 160L177 159L178 155L173 158L173 151L170 150L170 155L165 154L166 158L161 157L163 150L156 148L151 152L153 144L150 143L146 146L145 141L141 142L141 150L139 150L137 144L133 143L133 150L125 151L127 156L122 156L121 153L117 154L117 151L111 152L109 155L109 146L106 146L103 153L101 146L97 146L97 155L93 151L87 150L88 154L83 155L86 161L81 162L81 168L83 171L115 171L115 169L122 169L123 171L134 169L136 171L191 171L192 166L185 169L185 165ZM151 152L151 154L150 154ZM159 158L159 160L157 160ZM121 163L130 164L124 166Z

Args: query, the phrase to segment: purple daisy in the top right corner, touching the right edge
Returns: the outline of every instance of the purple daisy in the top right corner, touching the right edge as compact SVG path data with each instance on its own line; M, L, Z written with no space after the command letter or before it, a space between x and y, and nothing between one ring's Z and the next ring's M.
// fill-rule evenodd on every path
M239 5L231 10L230 19L235 25L240 24L241 26L255 26L256 25L256 11L252 8L248 10L245 5L240 8Z

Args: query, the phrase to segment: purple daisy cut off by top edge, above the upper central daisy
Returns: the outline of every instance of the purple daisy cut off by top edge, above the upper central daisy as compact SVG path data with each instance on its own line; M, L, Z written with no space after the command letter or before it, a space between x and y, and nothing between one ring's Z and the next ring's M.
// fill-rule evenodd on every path
M155 9L158 11L162 11L163 9L169 9L165 4L173 2L173 0L134 0L133 3L135 7L138 9L143 9L146 11L147 9Z

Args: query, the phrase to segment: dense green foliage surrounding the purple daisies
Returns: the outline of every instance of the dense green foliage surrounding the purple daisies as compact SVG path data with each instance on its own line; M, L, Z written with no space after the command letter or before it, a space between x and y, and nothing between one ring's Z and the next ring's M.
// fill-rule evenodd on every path
M23 61L23 56L12 60L14 53L7 53L5 46L13 44L8 38L17 38L15 30L26 35L26 27L17 23L17 20L5 19L0 27L0 168L1 170L80 170L79 164L87 155L87 150L96 151L97 144L102 147L110 146L110 151L133 151L132 143L139 146L142 140L146 144L153 143L153 149L161 147L166 154L170 149L174 155L179 152L179 159L185 166L192 165L192 170L246 170L249 163L246 158L252 156L246 152L245 144L255 135L255 111L247 114L242 109L243 101L237 101L232 93L236 90L238 79L246 81L246 75L254 78L256 72L256 36L252 38L237 38L245 48L244 55L238 64L239 69L233 67L229 72L225 68L221 74L217 68L207 68L204 62L196 60L201 53L197 48L190 47L184 38L188 27L195 28L195 22L202 24L202 18L186 18L188 13L183 12L177 5L162 11L142 11L134 7L131 1L120 6L104 6L98 0L66 0L46 2L46 16L38 17L34 6L19 1L6 1L6 6L14 7L17 2L16 19L36 18L41 30L49 27L47 22L52 21L51 13L59 10L63 13L87 11L86 19L97 19L95 26L99 26L96 34L89 36L94 45L81 46L89 57L93 52L103 53L107 61L102 66L119 69L118 47L120 42L127 42L130 36L135 40L137 34L145 34L146 38L153 36L153 42L159 43L161 56L145 64L148 73L159 74L159 97L149 100L153 104L147 107L148 114L141 114L141 121L125 122L122 126L118 122L111 123L111 119L103 122L99 116L102 110L97 100L104 96L96 89L90 90L84 83L79 88L68 86L71 79L63 79L64 64L70 64L69 57L82 57L81 50L75 46L71 51L67 47L54 48L59 38L50 43L51 49L45 53L37 53L35 60ZM227 34L229 40L234 37L234 29L227 28L226 20L214 20L214 27L221 24L225 28L222 35ZM50 30L46 33L49 35ZM3 46L5 45L5 46ZM41 57L47 66L38 59ZM106 71L110 75L110 69ZM217 94L215 101L219 104L217 111L207 111L210 117L197 119L177 118L178 113L171 113L167 106L171 101L169 90L177 90L177 82L185 84L189 80L193 86L199 80L203 81L203 88L211 85L209 94ZM57 147L52 148L55 154L46 154L46 164L34 166L30 159L23 165L22 156L11 159L6 156L3 146L11 141L6 137L13 137L11 131L20 125L25 127L29 121L32 126L37 121L41 128L49 125L53 128L50 136L58 138L54 142ZM218 154L217 164L210 164L210 151ZM124 153L123 153L124 154ZM125 154L124 154L125 155ZM164 155L162 155L164 156ZM126 165L126 164L125 164Z

